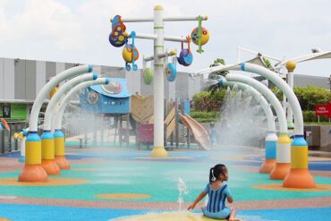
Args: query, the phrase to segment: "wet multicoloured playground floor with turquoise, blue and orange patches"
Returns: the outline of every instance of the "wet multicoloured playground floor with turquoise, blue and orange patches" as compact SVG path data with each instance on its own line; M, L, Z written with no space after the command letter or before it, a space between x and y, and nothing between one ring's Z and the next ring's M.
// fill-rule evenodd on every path
M0 157L0 220L207 220L198 214L199 207L194 214L178 211L204 189L209 168L217 163L229 169L235 200L231 207L242 220L326 220L331 214L331 158L327 157L310 157L318 188L301 191L284 189L281 181L258 173L262 149L201 151L192 146L169 151L166 159L150 158L149 150L134 146L70 147L66 152L72 169L36 184L16 181L23 166L19 153ZM179 178L189 191L181 206Z

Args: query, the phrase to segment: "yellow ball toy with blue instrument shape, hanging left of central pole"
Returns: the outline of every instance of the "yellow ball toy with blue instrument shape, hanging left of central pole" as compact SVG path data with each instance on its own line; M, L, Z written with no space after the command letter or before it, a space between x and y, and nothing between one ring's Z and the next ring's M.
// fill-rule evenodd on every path
M136 37L136 32L132 31L130 36L132 37L132 44L125 44L125 47L123 47L122 56L125 61L125 69L126 71L131 71L130 63L132 63L132 69L133 71L138 70L138 65L134 64L135 61L139 58L139 51L137 47L134 46L134 38Z

